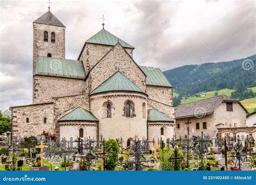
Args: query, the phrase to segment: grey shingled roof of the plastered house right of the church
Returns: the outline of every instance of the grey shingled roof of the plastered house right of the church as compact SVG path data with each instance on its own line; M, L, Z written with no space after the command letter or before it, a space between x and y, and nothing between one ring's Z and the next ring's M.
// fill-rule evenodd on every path
M201 115L212 114L214 109L219 106L221 102L225 101L237 102L226 95L219 95L218 97L181 104L176 107L176 119L196 117L196 115L200 117Z

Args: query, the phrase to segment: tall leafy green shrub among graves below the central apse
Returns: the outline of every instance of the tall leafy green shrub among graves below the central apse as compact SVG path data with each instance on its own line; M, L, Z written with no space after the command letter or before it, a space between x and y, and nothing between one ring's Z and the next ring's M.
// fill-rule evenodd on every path
M105 157L104 168L106 170L114 170L118 161L120 148L116 140L110 139L105 142L105 152L109 152Z

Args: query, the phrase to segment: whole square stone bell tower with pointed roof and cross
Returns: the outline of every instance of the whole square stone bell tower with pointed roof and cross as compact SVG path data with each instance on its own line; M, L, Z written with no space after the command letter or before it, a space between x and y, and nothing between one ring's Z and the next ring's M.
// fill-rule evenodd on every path
M48 8L33 22L33 76L38 56L65 58L65 25Z

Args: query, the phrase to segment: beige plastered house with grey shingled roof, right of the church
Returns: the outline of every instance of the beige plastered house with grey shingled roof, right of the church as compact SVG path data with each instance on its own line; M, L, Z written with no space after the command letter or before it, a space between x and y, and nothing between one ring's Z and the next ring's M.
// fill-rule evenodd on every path
M189 134L190 136L216 136L218 128L221 135L231 134L224 128L246 127L247 110L239 101L226 95L199 100L176 107L176 137ZM239 135L239 132L236 134Z

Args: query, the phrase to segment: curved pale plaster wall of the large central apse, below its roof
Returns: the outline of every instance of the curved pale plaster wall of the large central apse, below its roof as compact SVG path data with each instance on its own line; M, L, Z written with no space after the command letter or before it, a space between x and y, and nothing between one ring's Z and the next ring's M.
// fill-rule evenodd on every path
M136 117L127 118L124 114L124 103L126 100L134 102L134 111ZM112 117L105 118L106 108L103 107L104 102L112 102ZM99 119L99 134L103 134L105 139L120 138L122 136L124 142L127 139L139 138L147 136L147 113L143 118L143 102L146 103L147 97L144 94L132 92L110 92L104 94L96 94L91 96L91 112Z

